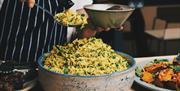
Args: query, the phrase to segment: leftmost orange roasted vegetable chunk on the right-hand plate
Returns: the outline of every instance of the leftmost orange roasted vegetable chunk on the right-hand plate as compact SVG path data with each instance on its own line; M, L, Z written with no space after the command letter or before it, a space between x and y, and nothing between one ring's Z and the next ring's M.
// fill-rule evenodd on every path
M147 83L151 83L154 81L153 75L147 71L144 71L142 73L142 78L143 81L147 82Z

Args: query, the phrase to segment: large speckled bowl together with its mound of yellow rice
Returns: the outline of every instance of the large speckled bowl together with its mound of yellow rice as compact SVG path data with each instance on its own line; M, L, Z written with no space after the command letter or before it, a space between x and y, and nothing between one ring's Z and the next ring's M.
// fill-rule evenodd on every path
M45 91L127 91L135 77L134 59L101 39L56 45L38 60Z

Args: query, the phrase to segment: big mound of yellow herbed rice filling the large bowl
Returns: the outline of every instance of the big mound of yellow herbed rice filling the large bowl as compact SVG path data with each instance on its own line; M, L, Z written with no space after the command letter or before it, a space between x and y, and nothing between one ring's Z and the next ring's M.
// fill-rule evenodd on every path
M45 58L44 67L61 74L95 76L125 70L130 66L128 60L101 39L84 38L55 45Z

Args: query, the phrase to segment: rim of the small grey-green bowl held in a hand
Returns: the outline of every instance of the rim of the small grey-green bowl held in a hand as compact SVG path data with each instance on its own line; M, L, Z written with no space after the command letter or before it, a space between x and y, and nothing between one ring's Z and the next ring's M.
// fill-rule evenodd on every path
M88 8L88 7L93 6L93 5L118 5L118 6L122 6L122 7L127 7L127 9L122 9L122 10L98 10L98 9ZM111 12L111 13L130 12L130 11L135 10L135 8L129 7L128 5L122 5L122 4L90 4L90 5L85 5L84 9L85 10L91 10L91 11L97 11L97 12Z

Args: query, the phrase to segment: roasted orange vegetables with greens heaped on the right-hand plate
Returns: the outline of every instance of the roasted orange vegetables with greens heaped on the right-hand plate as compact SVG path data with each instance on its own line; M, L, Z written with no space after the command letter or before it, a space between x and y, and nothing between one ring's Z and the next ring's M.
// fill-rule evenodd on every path
M155 59L143 68L136 68L136 75L146 83L180 90L180 62L178 61Z

